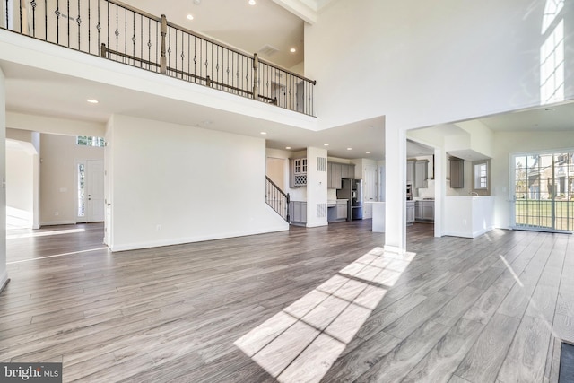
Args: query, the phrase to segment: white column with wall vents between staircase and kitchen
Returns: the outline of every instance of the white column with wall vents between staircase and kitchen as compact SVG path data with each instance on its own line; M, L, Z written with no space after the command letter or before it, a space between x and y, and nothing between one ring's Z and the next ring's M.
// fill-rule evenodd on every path
M326 226L326 149L307 148L307 227ZM320 160L319 160L320 159ZM325 170L317 162L325 162Z

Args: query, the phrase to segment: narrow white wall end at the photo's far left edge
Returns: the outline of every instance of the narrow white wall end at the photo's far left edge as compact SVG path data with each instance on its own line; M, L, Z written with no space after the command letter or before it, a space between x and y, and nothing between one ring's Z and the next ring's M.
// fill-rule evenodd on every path
M8 282L6 265L6 87L4 72L0 69L0 289Z

